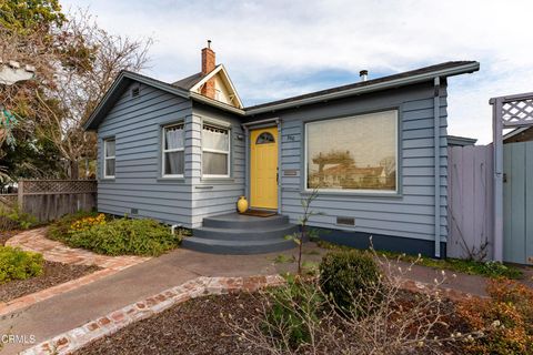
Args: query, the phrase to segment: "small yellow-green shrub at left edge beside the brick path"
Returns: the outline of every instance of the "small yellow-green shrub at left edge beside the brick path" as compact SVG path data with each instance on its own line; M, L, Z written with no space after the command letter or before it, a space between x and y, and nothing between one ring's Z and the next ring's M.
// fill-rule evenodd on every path
M0 283L38 276L42 274L43 263L41 254L0 246Z

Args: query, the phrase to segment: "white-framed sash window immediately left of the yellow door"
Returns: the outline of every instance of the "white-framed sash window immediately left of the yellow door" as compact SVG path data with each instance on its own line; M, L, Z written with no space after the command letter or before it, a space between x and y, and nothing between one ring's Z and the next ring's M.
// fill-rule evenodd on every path
M204 124L202 129L202 175L230 176L230 130Z

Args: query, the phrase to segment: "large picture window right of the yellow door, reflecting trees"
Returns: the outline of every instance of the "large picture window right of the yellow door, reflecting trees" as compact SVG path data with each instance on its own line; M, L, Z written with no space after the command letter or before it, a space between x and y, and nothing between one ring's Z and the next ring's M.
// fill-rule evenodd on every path
M398 111L305 124L306 189L395 192Z

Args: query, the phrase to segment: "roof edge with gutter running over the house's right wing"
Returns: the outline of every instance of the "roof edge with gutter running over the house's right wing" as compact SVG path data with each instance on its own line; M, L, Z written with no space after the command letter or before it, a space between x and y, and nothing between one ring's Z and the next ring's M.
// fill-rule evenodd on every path
M298 106L302 104L310 104L323 100L338 99L351 94L360 94L363 92L385 90L404 84L412 84L416 82L432 80L435 77L452 77L464 73L472 73L480 70L480 63L476 61L451 61L436 65L420 68L416 70L406 71L393 75L382 77L378 79L356 82L353 84L342 85L338 88L321 90L303 95L298 95L289 99L272 101L268 103L258 104L245 108L248 114L262 113L266 111L274 111Z

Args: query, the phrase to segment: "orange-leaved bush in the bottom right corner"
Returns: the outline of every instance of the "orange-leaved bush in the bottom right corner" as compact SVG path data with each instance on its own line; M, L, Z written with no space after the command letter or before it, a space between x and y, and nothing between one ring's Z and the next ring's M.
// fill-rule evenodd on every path
M471 300L457 311L472 331L485 336L466 345L469 354L533 354L533 290L515 281L492 280L491 298Z

